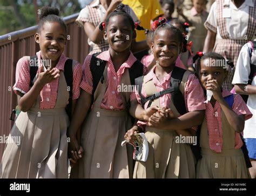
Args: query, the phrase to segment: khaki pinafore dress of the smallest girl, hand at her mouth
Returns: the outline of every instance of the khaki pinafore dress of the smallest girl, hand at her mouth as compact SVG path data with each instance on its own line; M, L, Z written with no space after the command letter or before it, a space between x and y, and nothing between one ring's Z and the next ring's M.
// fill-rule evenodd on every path
M221 111L221 121L223 148L220 153L214 152L209 147L206 118L201 126L200 147L202 158L198 160L197 178L251 178L242 150L240 148L235 149L235 131L228 124L223 111Z

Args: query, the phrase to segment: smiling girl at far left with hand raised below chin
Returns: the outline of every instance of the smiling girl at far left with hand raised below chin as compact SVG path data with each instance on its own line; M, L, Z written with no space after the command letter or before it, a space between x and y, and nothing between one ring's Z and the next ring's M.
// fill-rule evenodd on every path
M2 178L68 178L66 130L69 118L65 107L69 91L64 77L68 58L63 54L67 32L58 13L56 8L41 9L35 34L41 49L36 53L37 63L30 64L29 57L22 57L17 63L14 91L19 96L22 112L9 137L21 138L21 144L6 145ZM30 66L38 66L35 78L30 78ZM80 94L82 67L75 61L72 66L72 106L75 106Z

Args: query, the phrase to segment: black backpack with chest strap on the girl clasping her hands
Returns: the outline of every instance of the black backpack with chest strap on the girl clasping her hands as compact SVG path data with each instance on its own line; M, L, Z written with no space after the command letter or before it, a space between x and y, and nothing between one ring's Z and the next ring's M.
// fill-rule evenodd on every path
M158 97L162 96L163 94L171 93L172 103L176 107L176 109L180 113L180 115L187 113L184 96L183 96L183 93L181 93L180 89L179 89L179 85L180 85L181 81L183 80L185 72L186 72L186 70L181 69L180 67L174 66L172 75L171 75L171 87L169 89L154 93L149 97L144 97L142 95L142 84L143 84L144 76L136 78L135 84L138 86L138 92L139 92L140 99L142 100L143 108L147 101L149 101L149 105L147 105L147 107L150 107L154 99L157 99ZM185 88L185 86L184 86L184 88ZM196 157L196 159L199 160L201 158L201 154L200 154L198 145L190 145L190 147L191 147L191 150L192 150L194 156Z

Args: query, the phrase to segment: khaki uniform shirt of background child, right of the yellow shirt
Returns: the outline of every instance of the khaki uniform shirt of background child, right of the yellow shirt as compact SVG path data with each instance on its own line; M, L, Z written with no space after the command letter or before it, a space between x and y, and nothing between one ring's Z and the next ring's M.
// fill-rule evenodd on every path
M198 13L193 7L191 10L184 12L184 15L188 18L191 23L191 31L189 39L192 40L192 52L203 51L205 37L207 35L207 30L204 28L204 22L208 17L208 12L203 11Z

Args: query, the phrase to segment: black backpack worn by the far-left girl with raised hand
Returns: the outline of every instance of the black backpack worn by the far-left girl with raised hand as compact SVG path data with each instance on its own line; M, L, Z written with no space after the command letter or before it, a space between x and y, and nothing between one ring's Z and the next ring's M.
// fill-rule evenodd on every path
M29 60L29 74L30 74L30 87L33 86L33 79L36 77L37 74L37 70L38 70L38 58L37 55L33 56L33 57L29 57L26 56L26 58ZM68 105L66 105L66 113L69 116L69 119L71 120L71 113L72 113L72 96L73 96L73 67L75 66L77 62L73 59L67 59L64 65L64 76L65 76L65 80L66 80L66 84L67 86L70 87L69 90L69 103ZM33 65L33 66L31 66ZM17 106L15 110L12 110L11 116L10 116L10 120L15 120L14 118L12 118L13 114L16 114L16 117L18 116L17 114L18 110L17 110Z

